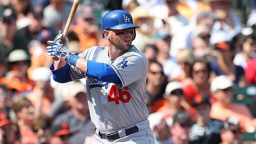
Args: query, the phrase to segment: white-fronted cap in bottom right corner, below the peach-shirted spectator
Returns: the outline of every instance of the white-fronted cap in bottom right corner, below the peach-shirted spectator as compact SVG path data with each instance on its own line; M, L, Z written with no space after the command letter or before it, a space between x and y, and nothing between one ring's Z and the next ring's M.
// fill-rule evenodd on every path
M234 131L236 129L240 129L240 123L237 117L230 116L223 122L223 128L226 130Z

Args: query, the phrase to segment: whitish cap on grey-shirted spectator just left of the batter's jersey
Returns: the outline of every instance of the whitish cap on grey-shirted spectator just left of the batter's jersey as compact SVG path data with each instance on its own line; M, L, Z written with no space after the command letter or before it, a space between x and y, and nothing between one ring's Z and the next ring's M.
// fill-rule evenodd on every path
M80 92L87 94L86 86L82 84L80 81L69 82L68 86L64 88L68 88L67 95L69 99L75 97Z

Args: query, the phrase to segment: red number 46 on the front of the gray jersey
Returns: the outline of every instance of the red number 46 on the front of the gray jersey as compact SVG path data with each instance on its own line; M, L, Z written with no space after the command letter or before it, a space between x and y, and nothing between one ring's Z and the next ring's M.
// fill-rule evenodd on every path
M128 90L127 87L124 87L124 89ZM116 85L112 85L108 94L108 101L115 101L116 104L120 104L119 100L123 103L128 103L131 99L131 94L126 90L122 91L122 89L117 88Z

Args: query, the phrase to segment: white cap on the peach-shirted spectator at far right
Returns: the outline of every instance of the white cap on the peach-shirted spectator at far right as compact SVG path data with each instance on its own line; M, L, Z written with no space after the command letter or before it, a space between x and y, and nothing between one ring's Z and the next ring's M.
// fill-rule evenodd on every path
M216 90L218 89L225 89L233 86L234 86L233 82L228 76L220 75L212 79L210 89L211 89L211 92L216 92Z

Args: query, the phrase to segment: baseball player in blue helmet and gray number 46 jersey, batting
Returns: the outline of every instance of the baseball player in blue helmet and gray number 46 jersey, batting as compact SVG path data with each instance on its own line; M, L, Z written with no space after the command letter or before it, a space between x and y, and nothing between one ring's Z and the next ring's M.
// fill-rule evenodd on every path
M93 144L155 144L145 104L148 60L132 45L136 37L132 16L108 12L101 23L108 46L93 46L75 55L63 34L48 41L50 69L59 83L86 78L88 105L96 135Z

